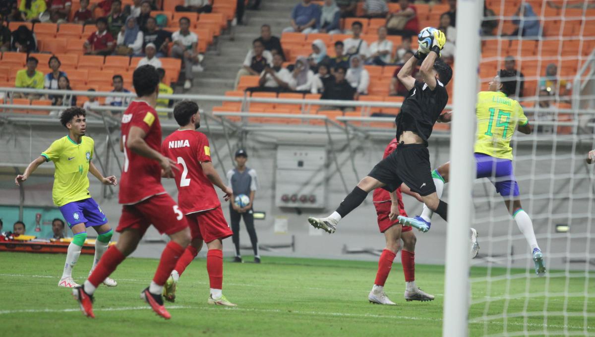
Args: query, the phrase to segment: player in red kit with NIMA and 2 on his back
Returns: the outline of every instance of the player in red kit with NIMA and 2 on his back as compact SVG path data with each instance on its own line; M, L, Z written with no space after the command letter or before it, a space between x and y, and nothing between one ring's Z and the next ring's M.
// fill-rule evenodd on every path
M201 127L198 105L183 100L174 108L174 118L180 128L167 136L161 144L161 152L178 163L181 174L176 175L178 202L192 233L192 242L186 247L165 283L165 300L176 298L176 285L186 267L194 260L206 242L206 272L209 274L211 293L208 304L235 307L221 292L223 288L223 242L233 232L221 210L221 203L213 185L225 193L228 201L233 190L227 187L211 162L211 148L205 134L196 131Z

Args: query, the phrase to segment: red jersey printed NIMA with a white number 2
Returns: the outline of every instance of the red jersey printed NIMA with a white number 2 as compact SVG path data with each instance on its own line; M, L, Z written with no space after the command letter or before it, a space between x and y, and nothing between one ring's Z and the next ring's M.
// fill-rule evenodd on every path
M167 136L161 152L178 163L176 187L178 204L184 214L202 212L220 206L212 182L202 171L202 162L211 161L211 148L205 134L194 130L176 130Z

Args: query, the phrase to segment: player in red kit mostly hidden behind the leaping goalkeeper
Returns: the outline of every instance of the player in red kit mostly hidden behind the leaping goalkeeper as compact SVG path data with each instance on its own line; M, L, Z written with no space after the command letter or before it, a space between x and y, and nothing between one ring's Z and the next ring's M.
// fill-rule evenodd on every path
M392 153L398 145L394 138L384 149L384 156ZM403 185L406 188L406 185ZM407 191L412 194L411 191ZM415 285L415 234L411 231L411 226L402 226L397 219L398 215L407 216L405 206L403 206L403 196L401 188L397 188L391 195L383 188L374 190L374 207L378 215L378 228L384 233L386 238L386 247L378 260L378 272L374 286L368 295L371 303L394 305L393 301L384 293L384 282L389 277L390 269L393 265L394 257L401 248L400 240L403 240L403 249L401 250L401 263L403 264L403 273L405 274L405 300L407 301L431 301L434 296L426 294Z

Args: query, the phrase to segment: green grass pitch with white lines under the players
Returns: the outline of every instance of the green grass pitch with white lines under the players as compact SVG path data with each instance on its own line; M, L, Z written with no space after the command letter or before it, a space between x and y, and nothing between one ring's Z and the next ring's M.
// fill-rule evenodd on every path
M250 258L248 258L250 260ZM224 263L223 292L237 308L206 304L209 284L206 262L196 259L180 279L177 299L166 304L172 319L157 317L139 299L151 280L157 260L127 259L112 275L116 288L101 286L95 294L96 319L87 319L70 295L58 288L64 255L0 253L0 329L2 336L440 336L444 289L444 267L416 266L418 286L436 295L432 302L406 302L405 281L400 263L385 286L397 305L368 303L377 263L345 260L316 260L264 257L262 264ZM89 272L91 256L80 257L74 277L82 282ZM474 278L486 274L474 267ZM505 269L492 269L505 275ZM525 270L513 269L513 274ZM544 325L543 315L527 318L532 335L569 333L595 335L595 275L551 273L552 278L518 278L472 284L474 304L469 312L469 336L522 332L524 317L509 317L487 323L475 322L484 313L510 314L523 311L552 313ZM529 281L527 281L529 280ZM461 280L461 282L465 282ZM567 283L568 282L568 283ZM506 292L506 289L509 289ZM572 297L565 301L567 289ZM525 291L534 294L525 301ZM589 295L585 296L585 292ZM498 298L505 294L511 298ZM548 293L546 298L544 293ZM547 303L546 303L547 300ZM465 301L465 298L461 298ZM568 317L559 316L561 312ZM587 313L584 318L583 313ZM557 313L557 314L556 314ZM514 315L511 315L514 316ZM514 334L513 334L514 335ZM568 335L568 334L566 334Z

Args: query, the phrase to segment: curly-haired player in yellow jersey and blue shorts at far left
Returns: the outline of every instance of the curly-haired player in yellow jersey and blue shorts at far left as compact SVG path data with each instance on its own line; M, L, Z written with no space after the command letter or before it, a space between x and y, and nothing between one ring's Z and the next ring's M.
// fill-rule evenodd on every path
M50 160L54 162L56 171L54 174L54 188L52 199L54 204L60 207L62 216L73 231L73 241L68 245L66 263L62 278L58 286L73 288L78 286L72 278L74 264L79 260L80 251L84 240L87 238L87 227L93 227L98 234L95 241L95 259L91 270L101 259L101 256L108 248L112 231L108 225L101 207L89 194L89 178L87 172L91 172L102 184L117 185L114 175L104 177L93 165L93 138L84 136L86 131L86 113L81 108L70 108L62 112L60 122L68 129L68 136L64 136L51 144L37 159L27 166L24 174L17 175L15 183L22 184L37 169L37 166ZM116 286L117 283L107 278L104 280L107 286Z

